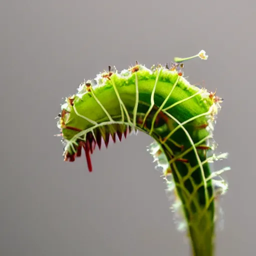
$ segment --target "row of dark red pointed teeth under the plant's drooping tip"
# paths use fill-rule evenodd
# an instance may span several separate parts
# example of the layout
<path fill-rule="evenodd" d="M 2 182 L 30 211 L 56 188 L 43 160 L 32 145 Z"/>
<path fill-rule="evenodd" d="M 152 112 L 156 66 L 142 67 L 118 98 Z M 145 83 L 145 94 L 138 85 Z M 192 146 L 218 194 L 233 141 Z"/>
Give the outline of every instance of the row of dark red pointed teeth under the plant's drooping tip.
<path fill-rule="evenodd" d="M 92 132 L 89 131 L 88 133 L 86 133 L 85 140 L 76 141 L 78 145 L 74 146 L 74 148 L 76 150 L 75 152 L 73 152 L 73 153 L 69 153 L 68 151 L 65 152 L 64 160 L 65 161 L 74 161 L 75 157 L 81 156 L 81 151 L 83 148 L 84 152 L 85 152 L 85 157 L 87 160 L 88 169 L 89 169 L 89 171 L 92 171 L 90 153 L 91 154 L 93 153 L 96 145 L 100 149 L 101 142 L 103 139 L 105 147 L 107 148 L 110 135 L 111 135 L 113 142 L 115 143 L 116 135 L 117 135 L 119 141 L 121 141 L 122 135 L 124 136 L 124 138 L 126 138 L 127 134 L 130 133 L 131 130 L 132 129 L 130 126 L 126 126 L 123 124 L 116 124 L 115 126 L 112 125 L 112 126 L 102 126 L 102 127 L 95 128 Z"/>

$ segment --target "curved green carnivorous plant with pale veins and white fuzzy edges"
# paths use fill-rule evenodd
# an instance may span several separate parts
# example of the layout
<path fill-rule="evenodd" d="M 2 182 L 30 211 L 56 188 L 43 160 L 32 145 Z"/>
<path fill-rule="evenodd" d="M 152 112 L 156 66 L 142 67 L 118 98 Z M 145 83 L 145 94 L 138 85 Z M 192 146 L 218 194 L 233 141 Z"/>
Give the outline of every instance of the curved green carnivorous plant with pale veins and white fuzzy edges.
<path fill-rule="evenodd" d="M 148 151 L 162 168 L 167 191 L 175 201 L 172 209 L 183 216 L 194 256 L 214 254 L 217 198 L 227 189 L 220 177 L 225 171 L 211 171 L 210 163 L 227 154 L 214 153 L 213 128 L 221 98 L 215 92 L 191 85 L 183 77 L 183 61 L 199 57 L 174 58 L 171 66 L 150 69 L 136 64 L 128 69 L 99 73 L 80 84 L 78 92 L 65 99 L 58 117 L 64 160 L 74 161 L 82 148 L 89 171 L 90 154 L 109 138 L 116 141 L 132 131 L 149 134 L 154 142 Z"/>

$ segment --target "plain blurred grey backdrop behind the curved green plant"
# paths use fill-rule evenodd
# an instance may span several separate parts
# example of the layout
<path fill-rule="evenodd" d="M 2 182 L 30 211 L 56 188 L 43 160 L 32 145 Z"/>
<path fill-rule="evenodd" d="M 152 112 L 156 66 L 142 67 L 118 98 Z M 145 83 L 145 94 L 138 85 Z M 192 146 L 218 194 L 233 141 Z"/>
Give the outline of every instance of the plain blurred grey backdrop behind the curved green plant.
<path fill-rule="evenodd" d="M 63 162 L 54 117 L 83 79 L 135 60 L 204 49 L 185 76 L 224 98 L 215 126 L 229 190 L 216 255 L 255 250 L 255 3 L 3 0 L 0 8 L 0 255 L 189 255 L 165 184 L 138 133 Z"/>

